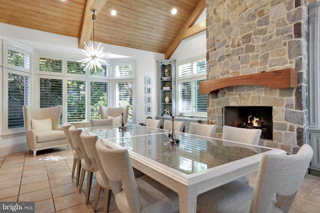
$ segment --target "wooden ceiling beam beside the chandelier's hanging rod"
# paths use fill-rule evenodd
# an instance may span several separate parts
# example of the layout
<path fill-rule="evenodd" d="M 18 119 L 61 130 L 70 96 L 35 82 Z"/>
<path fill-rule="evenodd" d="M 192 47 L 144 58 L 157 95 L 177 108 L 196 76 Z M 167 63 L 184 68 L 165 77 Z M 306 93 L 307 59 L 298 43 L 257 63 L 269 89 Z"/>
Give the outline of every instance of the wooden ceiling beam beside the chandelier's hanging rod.
<path fill-rule="evenodd" d="M 84 42 L 89 43 L 91 32 L 93 30 L 92 12 L 91 9 L 96 10 L 96 14 L 102 9 L 107 0 L 87 0 L 85 3 L 80 32 L 78 36 L 78 46 L 84 49 Z"/>

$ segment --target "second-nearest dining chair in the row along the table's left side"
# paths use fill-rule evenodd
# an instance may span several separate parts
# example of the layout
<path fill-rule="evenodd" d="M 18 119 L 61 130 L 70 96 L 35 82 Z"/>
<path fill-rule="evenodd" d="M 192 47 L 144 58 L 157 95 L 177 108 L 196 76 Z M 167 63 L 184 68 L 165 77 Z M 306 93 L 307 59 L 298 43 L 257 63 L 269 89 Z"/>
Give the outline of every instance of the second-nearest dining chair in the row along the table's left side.
<path fill-rule="evenodd" d="M 96 211 L 96 206 L 98 204 L 99 195 L 101 187 L 104 189 L 104 201 L 103 201 L 103 212 L 108 213 L 110 207 L 110 197 L 111 197 L 111 187 L 109 185 L 108 179 L 103 171 L 102 164 L 98 153 L 95 148 L 95 143 L 98 140 L 98 137 L 95 135 L 90 135 L 87 130 L 84 130 L 81 134 L 81 141 L 84 146 L 85 152 L 88 158 L 91 160 L 93 168 L 95 170 L 95 178 L 97 181 L 93 212 Z"/>

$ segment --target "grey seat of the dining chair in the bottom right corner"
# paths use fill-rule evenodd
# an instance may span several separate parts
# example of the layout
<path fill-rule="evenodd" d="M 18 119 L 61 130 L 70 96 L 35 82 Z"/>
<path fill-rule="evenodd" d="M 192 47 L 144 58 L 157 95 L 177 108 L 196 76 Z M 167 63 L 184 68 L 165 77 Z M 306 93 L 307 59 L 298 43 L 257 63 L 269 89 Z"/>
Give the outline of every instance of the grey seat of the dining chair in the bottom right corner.
<path fill-rule="evenodd" d="M 250 212 L 251 201 L 254 189 L 239 181 L 222 185 L 198 195 L 196 211 L 199 213 L 248 213 Z M 265 212 L 278 213 L 274 203 L 270 204 Z"/>

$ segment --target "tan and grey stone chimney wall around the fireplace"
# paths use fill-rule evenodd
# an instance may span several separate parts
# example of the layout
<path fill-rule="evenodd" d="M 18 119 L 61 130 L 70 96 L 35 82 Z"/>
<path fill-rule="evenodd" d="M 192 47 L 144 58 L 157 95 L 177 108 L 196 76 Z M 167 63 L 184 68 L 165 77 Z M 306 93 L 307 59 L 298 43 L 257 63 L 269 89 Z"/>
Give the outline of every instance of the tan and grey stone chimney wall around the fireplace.
<path fill-rule="evenodd" d="M 231 86 L 208 95 L 208 120 L 221 138 L 224 106 L 272 106 L 273 140 L 259 145 L 296 153 L 307 124 L 307 9 L 301 0 L 207 0 L 207 79 L 298 70 L 298 88 Z M 263 81 L 263 79 L 261 79 Z"/>

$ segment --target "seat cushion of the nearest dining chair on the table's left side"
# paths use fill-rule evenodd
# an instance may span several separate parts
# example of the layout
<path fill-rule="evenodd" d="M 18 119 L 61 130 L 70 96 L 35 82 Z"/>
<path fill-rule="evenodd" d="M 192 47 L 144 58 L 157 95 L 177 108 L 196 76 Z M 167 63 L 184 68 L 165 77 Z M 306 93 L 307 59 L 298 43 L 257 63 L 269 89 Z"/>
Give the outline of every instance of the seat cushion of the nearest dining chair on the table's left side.
<path fill-rule="evenodd" d="M 140 213 L 174 213 L 179 211 L 177 193 L 146 175 L 135 180 L 141 202 Z M 116 205 L 121 205 L 119 201 L 123 201 L 122 205 L 126 206 L 126 197 L 123 191 L 115 196 L 120 197 L 116 199 Z"/>

